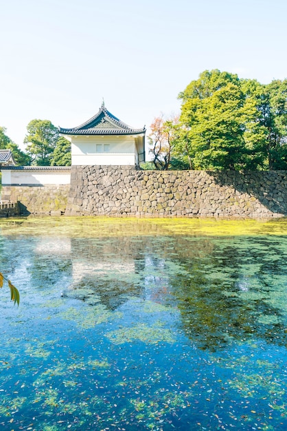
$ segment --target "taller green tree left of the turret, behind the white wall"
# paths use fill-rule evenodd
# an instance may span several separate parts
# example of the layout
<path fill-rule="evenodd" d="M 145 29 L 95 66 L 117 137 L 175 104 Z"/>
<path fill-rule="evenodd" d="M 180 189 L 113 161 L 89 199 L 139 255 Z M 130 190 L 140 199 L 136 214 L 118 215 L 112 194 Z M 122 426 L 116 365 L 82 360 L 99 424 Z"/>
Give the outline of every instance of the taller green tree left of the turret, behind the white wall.
<path fill-rule="evenodd" d="M 27 125 L 27 153 L 32 164 L 49 166 L 59 138 L 59 132 L 49 120 L 32 120 Z"/>

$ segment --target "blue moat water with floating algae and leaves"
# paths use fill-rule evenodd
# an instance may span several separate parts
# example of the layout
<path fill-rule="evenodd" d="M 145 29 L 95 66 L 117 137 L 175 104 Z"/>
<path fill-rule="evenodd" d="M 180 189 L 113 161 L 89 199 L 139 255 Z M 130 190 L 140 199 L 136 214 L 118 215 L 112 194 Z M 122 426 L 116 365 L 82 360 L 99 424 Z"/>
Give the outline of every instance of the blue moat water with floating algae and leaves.
<path fill-rule="evenodd" d="M 286 430 L 287 220 L 0 222 L 3 430 Z"/>

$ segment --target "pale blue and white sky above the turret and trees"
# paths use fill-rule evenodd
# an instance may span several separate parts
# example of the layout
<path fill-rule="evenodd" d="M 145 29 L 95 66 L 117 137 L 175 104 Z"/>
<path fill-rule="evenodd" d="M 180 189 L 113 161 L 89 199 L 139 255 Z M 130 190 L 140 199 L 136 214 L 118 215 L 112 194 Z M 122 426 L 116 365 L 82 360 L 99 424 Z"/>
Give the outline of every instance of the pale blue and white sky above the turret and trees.
<path fill-rule="evenodd" d="M 287 78 L 286 0 L 0 0 L 0 126 L 76 127 L 106 108 L 147 129 L 204 70 Z"/>

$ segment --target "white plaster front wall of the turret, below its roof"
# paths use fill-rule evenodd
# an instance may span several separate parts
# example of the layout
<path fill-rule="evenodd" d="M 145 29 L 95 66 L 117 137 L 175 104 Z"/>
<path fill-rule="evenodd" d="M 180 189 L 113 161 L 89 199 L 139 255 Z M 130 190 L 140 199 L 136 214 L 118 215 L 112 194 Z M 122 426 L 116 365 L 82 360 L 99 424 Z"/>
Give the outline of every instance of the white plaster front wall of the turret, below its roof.
<path fill-rule="evenodd" d="M 135 165 L 134 136 L 72 136 L 72 165 Z"/>

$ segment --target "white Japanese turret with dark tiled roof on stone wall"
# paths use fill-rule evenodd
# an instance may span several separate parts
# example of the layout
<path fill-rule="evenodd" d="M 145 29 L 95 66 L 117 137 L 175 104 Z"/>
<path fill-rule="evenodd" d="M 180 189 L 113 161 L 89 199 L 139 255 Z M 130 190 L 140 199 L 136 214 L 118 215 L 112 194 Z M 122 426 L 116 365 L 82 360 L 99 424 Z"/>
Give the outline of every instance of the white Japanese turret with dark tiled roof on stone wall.
<path fill-rule="evenodd" d="M 104 103 L 99 112 L 72 129 L 59 127 L 71 142 L 71 165 L 131 165 L 145 160 L 146 128 L 133 129 L 111 112 Z"/>

